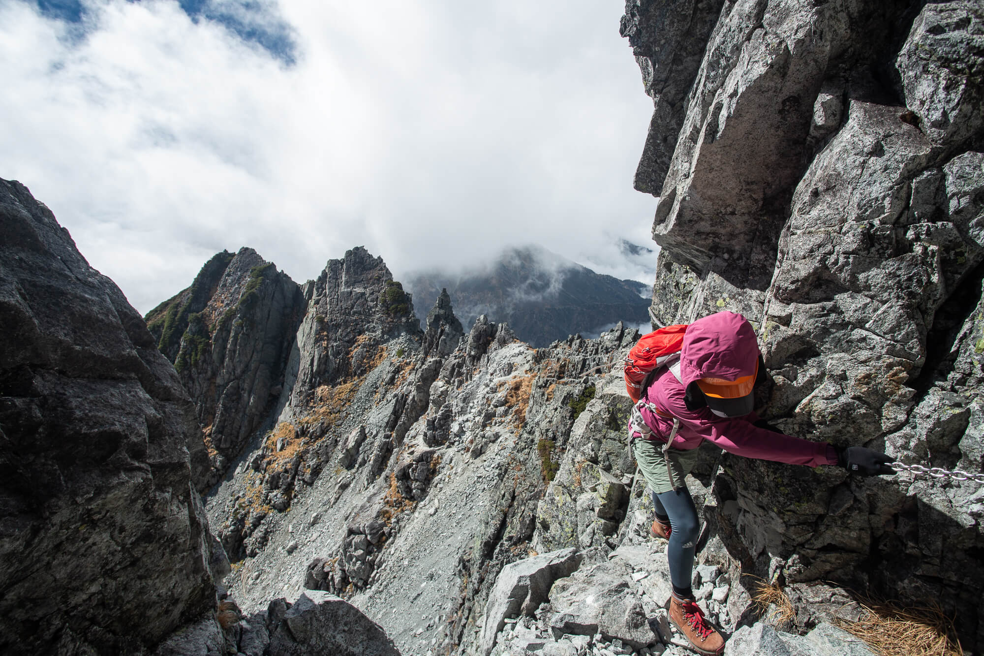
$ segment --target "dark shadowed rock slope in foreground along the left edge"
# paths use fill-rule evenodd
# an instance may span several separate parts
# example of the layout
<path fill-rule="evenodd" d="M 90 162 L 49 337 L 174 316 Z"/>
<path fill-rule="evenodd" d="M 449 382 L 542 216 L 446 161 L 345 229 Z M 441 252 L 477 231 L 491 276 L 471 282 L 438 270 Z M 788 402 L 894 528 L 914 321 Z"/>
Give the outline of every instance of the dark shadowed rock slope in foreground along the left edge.
<path fill-rule="evenodd" d="M 215 606 L 195 411 L 144 321 L 0 180 L 0 651 L 146 653 Z"/>

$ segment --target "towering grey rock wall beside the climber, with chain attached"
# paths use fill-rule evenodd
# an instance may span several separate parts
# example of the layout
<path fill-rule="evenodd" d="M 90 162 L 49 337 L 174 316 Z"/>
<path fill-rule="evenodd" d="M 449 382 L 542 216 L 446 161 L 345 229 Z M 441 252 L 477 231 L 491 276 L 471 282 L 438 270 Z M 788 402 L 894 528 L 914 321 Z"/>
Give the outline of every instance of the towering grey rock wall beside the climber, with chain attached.
<path fill-rule="evenodd" d="M 622 33 L 655 106 L 653 319 L 745 314 L 787 432 L 980 472 L 980 3 L 635 0 Z M 745 569 L 936 599 L 984 643 L 980 486 L 716 471 Z"/>

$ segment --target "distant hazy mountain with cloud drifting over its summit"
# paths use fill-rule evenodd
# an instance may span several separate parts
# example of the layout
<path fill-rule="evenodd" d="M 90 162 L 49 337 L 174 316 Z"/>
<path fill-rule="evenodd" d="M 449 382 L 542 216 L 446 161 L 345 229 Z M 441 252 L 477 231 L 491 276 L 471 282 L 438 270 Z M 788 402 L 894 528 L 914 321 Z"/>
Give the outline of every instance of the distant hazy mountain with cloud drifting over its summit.
<path fill-rule="evenodd" d="M 447 289 L 465 327 L 487 314 L 509 323 L 534 347 L 576 333 L 597 334 L 617 321 L 640 324 L 649 319 L 645 284 L 596 274 L 536 246 L 507 250 L 492 265 L 461 276 L 418 272 L 404 280 L 409 292 L 425 300 Z M 418 305 L 420 312 L 427 303 Z"/>

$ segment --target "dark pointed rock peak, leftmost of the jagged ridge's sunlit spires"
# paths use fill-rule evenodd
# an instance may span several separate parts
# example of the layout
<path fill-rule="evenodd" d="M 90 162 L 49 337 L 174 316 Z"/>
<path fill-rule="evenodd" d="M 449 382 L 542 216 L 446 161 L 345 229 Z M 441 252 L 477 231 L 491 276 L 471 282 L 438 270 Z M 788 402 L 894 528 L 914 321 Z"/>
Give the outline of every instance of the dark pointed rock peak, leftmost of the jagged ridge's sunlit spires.
<path fill-rule="evenodd" d="M 148 313 L 160 352 L 195 400 L 215 475 L 273 410 L 304 306 L 297 284 L 242 248 L 215 255 L 191 287 Z"/>

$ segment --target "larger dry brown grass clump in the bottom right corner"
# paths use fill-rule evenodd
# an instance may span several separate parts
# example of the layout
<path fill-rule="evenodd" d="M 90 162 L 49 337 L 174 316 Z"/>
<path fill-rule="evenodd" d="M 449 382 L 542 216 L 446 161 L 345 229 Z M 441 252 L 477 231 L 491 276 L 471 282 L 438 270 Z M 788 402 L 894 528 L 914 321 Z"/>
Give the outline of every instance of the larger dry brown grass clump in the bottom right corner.
<path fill-rule="evenodd" d="M 865 617 L 839 621 L 881 656 L 961 656 L 953 623 L 939 607 L 903 608 L 889 602 L 862 604 Z"/>

